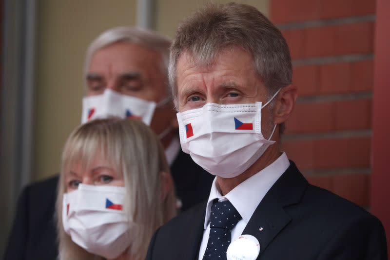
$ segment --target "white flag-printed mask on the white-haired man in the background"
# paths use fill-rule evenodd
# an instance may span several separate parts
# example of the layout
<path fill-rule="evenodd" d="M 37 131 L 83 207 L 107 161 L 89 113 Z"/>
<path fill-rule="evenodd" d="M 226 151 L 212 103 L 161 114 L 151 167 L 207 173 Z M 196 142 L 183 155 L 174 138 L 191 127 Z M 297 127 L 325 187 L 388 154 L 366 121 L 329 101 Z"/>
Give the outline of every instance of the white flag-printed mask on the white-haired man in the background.
<path fill-rule="evenodd" d="M 105 89 L 104 93 L 82 99 L 81 123 L 89 120 L 104 119 L 110 116 L 118 118 L 135 118 L 150 125 L 156 107 L 170 101 L 165 98 L 156 103 L 132 96 L 123 95 L 111 89 Z"/>

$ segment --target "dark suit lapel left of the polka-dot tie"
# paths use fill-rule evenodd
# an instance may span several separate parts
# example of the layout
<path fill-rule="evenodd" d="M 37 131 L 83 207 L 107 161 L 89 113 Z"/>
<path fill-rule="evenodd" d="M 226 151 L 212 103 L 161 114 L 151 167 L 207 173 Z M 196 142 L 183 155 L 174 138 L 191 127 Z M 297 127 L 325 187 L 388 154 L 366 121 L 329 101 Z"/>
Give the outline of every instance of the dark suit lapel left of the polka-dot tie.
<path fill-rule="evenodd" d="M 182 243 L 177 248 L 178 255 L 184 257 L 182 259 L 197 259 L 200 242 L 203 238 L 206 205 L 207 203 L 201 203 L 200 205 L 195 206 L 194 209 L 190 209 L 188 212 L 189 214 L 187 214 L 187 225 L 185 225 L 185 228 L 182 230 L 182 232 L 184 232 L 183 238 L 185 239 L 183 239 Z"/>

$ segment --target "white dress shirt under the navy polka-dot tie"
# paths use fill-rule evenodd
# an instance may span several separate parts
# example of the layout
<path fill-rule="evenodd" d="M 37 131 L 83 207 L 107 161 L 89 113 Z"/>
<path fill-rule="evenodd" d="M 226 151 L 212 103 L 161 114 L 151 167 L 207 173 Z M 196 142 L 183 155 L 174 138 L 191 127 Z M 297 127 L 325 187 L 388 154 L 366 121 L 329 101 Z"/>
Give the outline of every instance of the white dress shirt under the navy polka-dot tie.
<path fill-rule="evenodd" d="M 206 216 L 204 220 L 204 232 L 202 242 L 199 248 L 199 260 L 203 259 L 206 251 L 207 242 L 210 234 L 210 212 L 213 200 L 218 201 L 229 200 L 234 208 L 241 215 L 242 220 L 238 221 L 232 229 L 231 241 L 242 235 L 246 225 L 251 219 L 255 209 L 261 200 L 263 200 L 266 193 L 271 189 L 276 180 L 287 170 L 290 166 L 290 161 L 287 159 L 286 153 L 283 152 L 278 159 L 276 159 L 269 166 L 256 173 L 254 176 L 244 180 L 238 184 L 225 196 L 222 196 L 216 187 L 216 178 L 211 186 L 209 200 L 207 201 Z M 245 234 L 244 234 L 245 235 Z"/>

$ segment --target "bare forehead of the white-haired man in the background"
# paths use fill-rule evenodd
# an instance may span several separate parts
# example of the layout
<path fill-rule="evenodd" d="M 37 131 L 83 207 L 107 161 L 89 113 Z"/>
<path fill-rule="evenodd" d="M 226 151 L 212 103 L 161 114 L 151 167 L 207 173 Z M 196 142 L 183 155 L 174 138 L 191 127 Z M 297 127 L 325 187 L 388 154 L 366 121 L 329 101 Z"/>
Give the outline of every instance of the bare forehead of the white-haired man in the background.
<path fill-rule="evenodd" d="M 135 43 L 116 42 L 97 50 L 91 57 L 88 72 L 104 74 L 130 71 L 161 72 L 161 56 L 154 50 Z"/>

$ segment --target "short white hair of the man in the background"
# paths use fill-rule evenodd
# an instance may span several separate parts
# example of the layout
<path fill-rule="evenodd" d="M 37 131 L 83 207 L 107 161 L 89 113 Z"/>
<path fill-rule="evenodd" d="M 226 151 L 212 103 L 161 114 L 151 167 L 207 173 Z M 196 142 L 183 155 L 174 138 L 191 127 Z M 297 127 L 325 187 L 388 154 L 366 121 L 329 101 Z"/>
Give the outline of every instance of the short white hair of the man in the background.
<path fill-rule="evenodd" d="M 91 59 L 96 51 L 116 42 L 138 44 L 161 55 L 162 71 L 168 77 L 169 47 L 171 39 L 153 31 L 137 27 L 116 27 L 98 36 L 88 47 L 85 59 L 84 75 L 87 74 Z"/>

